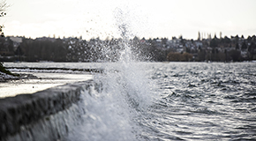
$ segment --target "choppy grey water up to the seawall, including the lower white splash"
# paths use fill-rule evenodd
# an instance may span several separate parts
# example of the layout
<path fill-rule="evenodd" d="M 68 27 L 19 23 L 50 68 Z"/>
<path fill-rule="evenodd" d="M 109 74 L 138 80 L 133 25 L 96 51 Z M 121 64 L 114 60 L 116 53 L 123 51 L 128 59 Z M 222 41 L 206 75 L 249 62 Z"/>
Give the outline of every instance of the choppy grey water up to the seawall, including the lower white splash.
<path fill-rule="evenodd" d="M 68 140 L 256 139 L 256 63 L 120 66 L 95 76 Z"/>

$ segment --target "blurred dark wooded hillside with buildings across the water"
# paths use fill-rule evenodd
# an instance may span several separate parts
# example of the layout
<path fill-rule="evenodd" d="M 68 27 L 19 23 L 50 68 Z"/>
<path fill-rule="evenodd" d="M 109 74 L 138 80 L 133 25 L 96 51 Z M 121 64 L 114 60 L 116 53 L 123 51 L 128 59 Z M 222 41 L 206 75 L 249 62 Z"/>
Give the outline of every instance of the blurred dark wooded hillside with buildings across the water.
<path fill-rule="evenodd" d="M 25 37 L 0 38 L 1 62 L 115 62 L 120 56 L 122 39 L 99 38 L 82 40 L 80 38 L 49 38 L 29 39 Z M 129 41 L 133 57 L 140 61 L 212 61 L 240 62 L 256 60 L 255 35 L 242 36 L 216 35 L 211 38 L 187 40 L 180 37 L 139 39 L 134 37 Z"/>

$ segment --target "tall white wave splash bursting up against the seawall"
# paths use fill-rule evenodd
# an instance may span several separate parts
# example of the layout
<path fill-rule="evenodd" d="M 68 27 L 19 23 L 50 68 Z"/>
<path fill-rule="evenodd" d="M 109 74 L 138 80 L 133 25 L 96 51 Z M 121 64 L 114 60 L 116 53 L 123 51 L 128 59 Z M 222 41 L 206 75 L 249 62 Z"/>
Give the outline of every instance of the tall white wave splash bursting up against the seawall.
<path fill-rule="evenodd" d="M 138 140 L 136 116 L 148 110 L 154 99 L 145 68 L 134 58 L 128 12 L 116 9 L 117 27 L 122 37 L 118 61 L 102 63 L 104 72 L 94 75 L 94 86 L 84 91 L 83 123 L 68 140 Z M 105 50 L 108 54 L 108 50 Z M 111 57 L 111 56 L 109 56 Z M 109 59 L 111 60 L 111 59 Z"/>

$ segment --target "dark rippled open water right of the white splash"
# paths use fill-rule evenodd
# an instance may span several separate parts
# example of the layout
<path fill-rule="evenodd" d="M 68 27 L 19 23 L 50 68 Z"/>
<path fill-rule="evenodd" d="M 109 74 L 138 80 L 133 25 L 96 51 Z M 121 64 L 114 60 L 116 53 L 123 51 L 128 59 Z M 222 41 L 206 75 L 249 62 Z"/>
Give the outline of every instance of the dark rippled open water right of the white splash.
<path fill-rule="evenodd" d="M 255 63 L 162 63 L 161 99 L 143 113 L 148 140 L 256 140 Z"/>

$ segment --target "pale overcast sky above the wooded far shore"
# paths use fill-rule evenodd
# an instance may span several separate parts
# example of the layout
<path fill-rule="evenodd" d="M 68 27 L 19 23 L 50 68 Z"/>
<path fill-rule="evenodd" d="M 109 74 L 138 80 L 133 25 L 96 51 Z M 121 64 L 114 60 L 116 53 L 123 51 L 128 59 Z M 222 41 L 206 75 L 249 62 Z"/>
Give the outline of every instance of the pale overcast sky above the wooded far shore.
<path fill-rule="evenodd" d="M 118 37 L 117 11 L 131 33 L 140 38 L 183 35 L 197 39 L 198 32 L 227 35 L 256 34 L 256 0 L 6 0 L 11 6 L 0 19 L 5 35 L 31 38 L 83 36 Z M 122 19 L 123 20 L 123 19 Z"/>

